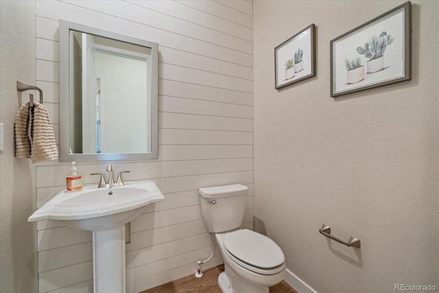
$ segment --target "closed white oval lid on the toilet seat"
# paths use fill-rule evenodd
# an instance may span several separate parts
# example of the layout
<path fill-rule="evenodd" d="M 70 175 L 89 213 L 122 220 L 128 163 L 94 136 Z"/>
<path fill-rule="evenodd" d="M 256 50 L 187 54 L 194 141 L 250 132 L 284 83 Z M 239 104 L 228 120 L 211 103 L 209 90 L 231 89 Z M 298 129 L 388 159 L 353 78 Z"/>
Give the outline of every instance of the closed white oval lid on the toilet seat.
<path fill-rule="evenodd" d="M 237 259 L 258 268 L 275 268 L 285 261 L 276 242 L 248 229 L 226 233 L 224 247 Z"/>

